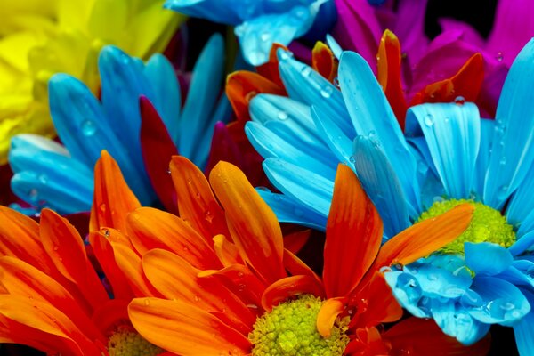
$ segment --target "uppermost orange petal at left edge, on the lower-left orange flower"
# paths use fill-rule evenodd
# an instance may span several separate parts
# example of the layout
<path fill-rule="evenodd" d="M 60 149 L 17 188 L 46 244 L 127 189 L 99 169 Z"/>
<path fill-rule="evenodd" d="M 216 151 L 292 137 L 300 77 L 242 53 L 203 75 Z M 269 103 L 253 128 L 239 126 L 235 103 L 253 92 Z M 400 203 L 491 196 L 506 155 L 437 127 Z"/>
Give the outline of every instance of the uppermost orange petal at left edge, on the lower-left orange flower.
<path fill-rule="evenodd" d="M 0 255 L 11 255 L 53 276 L 59 275 L 39 239 L 39 224 L 0 206 Z"/>

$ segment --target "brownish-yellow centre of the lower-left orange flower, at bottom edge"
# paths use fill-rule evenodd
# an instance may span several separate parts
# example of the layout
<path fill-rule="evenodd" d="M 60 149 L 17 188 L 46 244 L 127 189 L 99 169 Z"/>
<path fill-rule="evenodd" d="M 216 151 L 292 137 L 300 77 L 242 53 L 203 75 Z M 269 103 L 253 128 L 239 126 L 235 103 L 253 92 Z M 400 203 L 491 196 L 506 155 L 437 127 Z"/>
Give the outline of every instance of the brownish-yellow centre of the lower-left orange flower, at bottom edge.
<path fill-rule="evenodd" d="M 123 326 L 109 337 L 108 352 L 109 356 L 156 356 L 163 350 L 150 344 L 133 328 Z"/>

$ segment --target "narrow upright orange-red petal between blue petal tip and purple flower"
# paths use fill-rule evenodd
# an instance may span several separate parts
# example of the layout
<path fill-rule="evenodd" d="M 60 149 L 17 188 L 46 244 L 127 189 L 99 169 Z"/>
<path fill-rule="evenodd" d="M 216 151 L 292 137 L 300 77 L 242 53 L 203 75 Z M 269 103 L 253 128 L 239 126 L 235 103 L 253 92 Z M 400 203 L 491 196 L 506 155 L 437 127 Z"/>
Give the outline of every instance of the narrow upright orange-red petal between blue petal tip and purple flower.
<path fill-rule="evenodd" d="M 392 106 L 395 117 L 399 125 L 404 129 L 404 120 L 406 118 L 406 99 L 401 83 L 401 44 L 399 39 L 392 31 L 386 29 L 380 45 L 378 46 L 378 68 L 376 76 L 378 83 L 382 85 L 387 101 Z"/>

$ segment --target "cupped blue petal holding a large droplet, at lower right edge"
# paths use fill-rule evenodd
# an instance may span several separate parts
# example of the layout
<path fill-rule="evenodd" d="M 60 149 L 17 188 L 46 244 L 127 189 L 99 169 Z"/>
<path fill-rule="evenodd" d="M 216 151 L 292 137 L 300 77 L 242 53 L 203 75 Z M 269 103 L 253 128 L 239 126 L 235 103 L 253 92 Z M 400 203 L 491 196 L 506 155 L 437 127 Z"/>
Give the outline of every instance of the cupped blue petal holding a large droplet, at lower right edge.
<path fill-rule="evenodd" d="M 503 279 L 476 276 L 471 289 L 481 296 L 482 305 L 466 308 L 483 323 L 510 325 L 530 312 L 529 301 L 521 290 Z"/>

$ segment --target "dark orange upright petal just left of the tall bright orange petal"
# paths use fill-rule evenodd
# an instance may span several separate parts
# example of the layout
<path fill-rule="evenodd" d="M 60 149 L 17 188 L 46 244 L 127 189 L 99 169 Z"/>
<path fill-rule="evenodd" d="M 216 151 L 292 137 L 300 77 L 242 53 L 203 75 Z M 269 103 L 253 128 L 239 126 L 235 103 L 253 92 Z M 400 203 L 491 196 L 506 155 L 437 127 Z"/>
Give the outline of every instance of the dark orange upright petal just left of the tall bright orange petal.
<path fill-rule="evenodd" d="M 224 212 L 204 174 L 189 159 L 173 156 L 170 164 L 180 217 L 211 244 L 215 235 L 229 236 Z"/>

